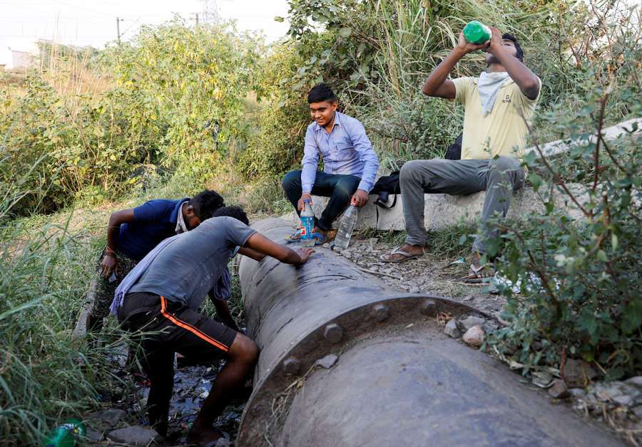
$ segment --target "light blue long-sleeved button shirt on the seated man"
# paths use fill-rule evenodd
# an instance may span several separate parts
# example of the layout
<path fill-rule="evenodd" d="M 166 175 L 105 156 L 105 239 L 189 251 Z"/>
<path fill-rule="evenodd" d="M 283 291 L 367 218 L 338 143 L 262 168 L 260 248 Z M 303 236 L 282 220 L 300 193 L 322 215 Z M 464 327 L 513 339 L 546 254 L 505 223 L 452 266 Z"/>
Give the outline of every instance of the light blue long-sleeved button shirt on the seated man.
<path fill-rule="evenodd" d="M 358 189 L 367 192 L 374 186 L 379 161 L 372 143 L 365 135 L 365 128 L 355 118 L 335 112 L 330 134 L 316 122 L 307 127 L 301 172 L 302 192 L 312 191 L 317 177 L 319 154 L 323 158 L 323 170 L 327 174 L 361 177 Z"/>

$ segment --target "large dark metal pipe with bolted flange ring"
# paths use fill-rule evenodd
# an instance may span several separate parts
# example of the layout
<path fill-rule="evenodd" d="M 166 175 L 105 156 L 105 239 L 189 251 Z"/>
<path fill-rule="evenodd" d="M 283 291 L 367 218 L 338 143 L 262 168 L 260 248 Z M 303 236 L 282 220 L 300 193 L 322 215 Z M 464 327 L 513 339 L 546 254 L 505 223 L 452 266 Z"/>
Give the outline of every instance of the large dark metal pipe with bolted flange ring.
<path fill-rule="evenodd" d="M 238 446 L 618 444 L 444 335 L 437 317 L 472 307 L 399 295 L 325 248 L 298 268 L 244 258 L 240 283 L 261 353 Z"/>

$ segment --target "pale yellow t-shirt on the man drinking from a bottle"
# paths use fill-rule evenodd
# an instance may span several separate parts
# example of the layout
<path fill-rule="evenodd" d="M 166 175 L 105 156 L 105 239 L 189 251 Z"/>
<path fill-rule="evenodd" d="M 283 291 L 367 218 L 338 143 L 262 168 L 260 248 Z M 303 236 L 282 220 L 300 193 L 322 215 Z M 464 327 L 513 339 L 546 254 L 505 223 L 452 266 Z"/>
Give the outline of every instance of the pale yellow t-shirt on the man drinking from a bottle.
<path fill-rule="evenodd" d="M 482 117 L 477 80 L 479 78 L 453 80 L 455 100 L 466 107 L 462 159 L 493 158 L 498 154 L 521 159 L 526 148 L 528 129 L 519 115 L 519 109 L 524 111 L 530 125 L 539 93 L 537 98 L 529 100 L 515 81 L 508 78 L 499 88 L 492 110 Z M 541 87 L 541 80 L 537 80 Z"/>

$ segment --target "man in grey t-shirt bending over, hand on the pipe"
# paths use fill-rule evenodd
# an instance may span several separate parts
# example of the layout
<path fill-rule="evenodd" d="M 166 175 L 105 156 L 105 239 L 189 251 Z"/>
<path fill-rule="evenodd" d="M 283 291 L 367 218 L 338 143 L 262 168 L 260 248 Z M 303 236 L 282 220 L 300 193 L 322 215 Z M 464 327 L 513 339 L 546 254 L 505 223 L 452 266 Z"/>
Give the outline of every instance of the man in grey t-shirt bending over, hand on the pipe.
<path fill-rule="evenodd" d="M 175 236 L 153 260 L 141 261 L 149 265 L 118 310 L 124 329 L 148 332 L 140 343 L 145 353 L 142 366 L 151 381 L 149 421 L 163 435 L 173 387 L 174 352 L 200 362 L 221 356 L 227 360 L 190 428 L 189 443 L 205 444 L 220 437 L 213 431 L 213 421 L 256 363 L 258 348 L 250 338 L 198 313 L 205 295 L 213 295 L 235 248 L 241 247 L 240 253 L 257 261 L 267 255 L 293 265 L 305 263 L 313 253 L 311 248 L 292 251 L 280 246 L 247 224 L 242 209 L 227 206 L 193 231 Z"/>

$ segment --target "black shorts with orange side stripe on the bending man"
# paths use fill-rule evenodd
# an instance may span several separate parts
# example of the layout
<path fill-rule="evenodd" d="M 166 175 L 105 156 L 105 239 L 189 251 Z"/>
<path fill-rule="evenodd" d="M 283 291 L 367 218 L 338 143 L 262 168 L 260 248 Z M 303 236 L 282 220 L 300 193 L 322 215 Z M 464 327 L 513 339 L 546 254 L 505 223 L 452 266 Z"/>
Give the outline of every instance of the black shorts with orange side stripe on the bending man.
<path fill-rule="evenodd" d="M 154 293 L 125 295 L 118 321 L 128 332 L 143 332 L 143 351 L 179 352 L 198 363 L 224 357 L 237 334 L 184 303 Z"/>

